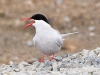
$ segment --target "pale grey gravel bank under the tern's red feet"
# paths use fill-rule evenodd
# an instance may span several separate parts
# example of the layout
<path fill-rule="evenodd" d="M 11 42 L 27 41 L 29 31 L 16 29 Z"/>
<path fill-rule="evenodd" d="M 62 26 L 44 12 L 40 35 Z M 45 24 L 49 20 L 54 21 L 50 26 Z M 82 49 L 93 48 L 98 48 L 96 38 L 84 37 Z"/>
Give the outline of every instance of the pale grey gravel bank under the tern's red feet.
<path fill-rule="evenodd" d="M 10 65 L 0 66 L 0 75 L 99 75 L 100 48 L 83 50 L 75 54 L 55 57 L 55 60 L 19 64 L 10 61 Z"/>

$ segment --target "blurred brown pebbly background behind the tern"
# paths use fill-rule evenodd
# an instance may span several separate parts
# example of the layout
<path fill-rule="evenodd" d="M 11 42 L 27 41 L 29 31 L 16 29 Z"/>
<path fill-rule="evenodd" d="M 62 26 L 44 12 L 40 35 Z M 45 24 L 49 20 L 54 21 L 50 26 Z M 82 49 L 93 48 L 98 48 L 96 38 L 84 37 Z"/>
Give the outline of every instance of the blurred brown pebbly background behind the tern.
<path fill-rule="evenodd" d="M 40 60 L 32 45 L 35 28 L 21 18 L 44 14 L 51 26 L 67 36 L 56 55 L 72 54 L 100 46 L 100 0 L 0 0 L 0 64 Z"/>

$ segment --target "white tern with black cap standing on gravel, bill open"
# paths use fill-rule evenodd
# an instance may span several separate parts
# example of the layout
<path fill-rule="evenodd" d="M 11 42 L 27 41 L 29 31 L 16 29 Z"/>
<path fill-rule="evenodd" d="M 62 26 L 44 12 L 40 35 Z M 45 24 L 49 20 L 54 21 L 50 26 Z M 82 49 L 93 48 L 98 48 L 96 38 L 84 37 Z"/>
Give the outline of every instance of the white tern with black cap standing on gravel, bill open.
<path fill-rule="evenodd" d="M 61 34 L 59 31 L 51 27 L 48 19 L 43 14 L 34 14 L 29 18 L 23 18 L 22 20 L 31 20 L 32 22 L 24 26 L 34 26 L 36 33 L 33 37 L 34 46 L 42 52 L 42 59 L 40 62 L 44 62 L 45 55 L 51 56 L 50 61 L 54 60 L 55 54 L 61 50 L 63 46 L 63 37 L 77 33 Z"/>

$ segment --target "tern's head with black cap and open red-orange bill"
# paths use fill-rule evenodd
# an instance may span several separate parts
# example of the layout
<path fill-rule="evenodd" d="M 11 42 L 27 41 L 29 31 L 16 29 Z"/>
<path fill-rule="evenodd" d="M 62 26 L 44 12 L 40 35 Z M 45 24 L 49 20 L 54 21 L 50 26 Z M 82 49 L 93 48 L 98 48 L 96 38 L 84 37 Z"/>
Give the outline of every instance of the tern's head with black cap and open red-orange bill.
<path fill-rule="evenodd" d="M 32 17 L 23 18 L 22 20 L 32 20 L 32 22 L 27 24 L 26 26 L 24 26 L 24 28 L 27 28 L 27 27 L 32 26 L 32 25 L 34 26 L 37 22 L 40 22 L 41 20 L 45 21 L 46 23 L 49 24 L 47 18 L 42 14 L 35 14 Z"/>

